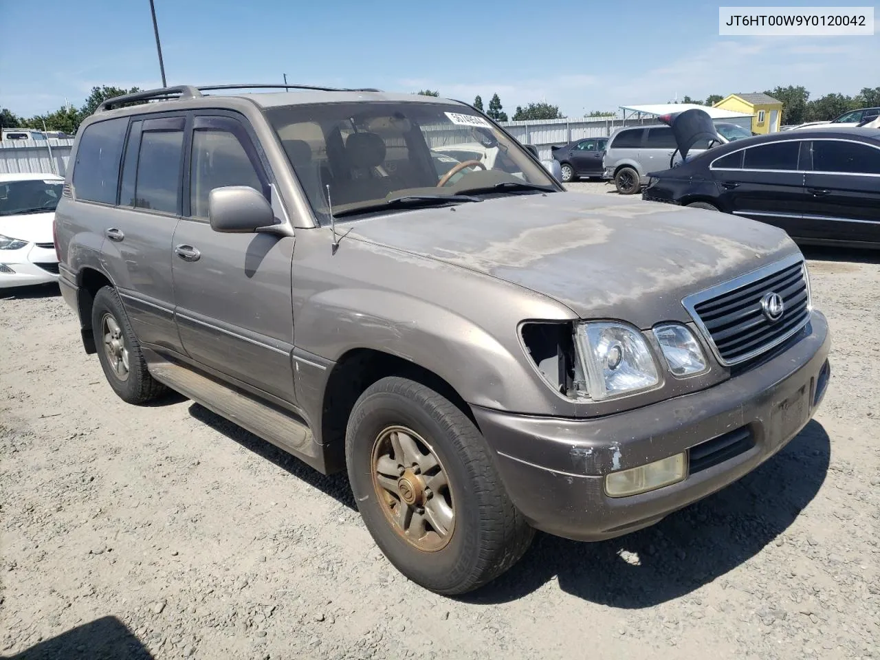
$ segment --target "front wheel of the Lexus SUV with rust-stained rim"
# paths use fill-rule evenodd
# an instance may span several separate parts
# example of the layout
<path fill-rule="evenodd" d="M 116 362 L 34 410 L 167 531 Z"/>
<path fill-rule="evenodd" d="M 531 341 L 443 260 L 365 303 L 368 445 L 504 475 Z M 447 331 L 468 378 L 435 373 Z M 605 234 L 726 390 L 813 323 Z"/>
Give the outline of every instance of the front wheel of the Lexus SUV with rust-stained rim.
<path fill-rule="evenodd" d="M 416 447 L 420 463 L 430 466 L 436 460 L 438 465 L 415 475 L 400 474 L 402 468 L 395 463 L 413 455 L 403 451 L 398 456 L 399 448 L 407 445 Z M 364 524 L 400 573 L 425 589 L 449 596 L 477 589 L 513 566 L 532 543 L 534 532 L 510 502 L 480 431 L 458 407 L 425 385 L 400 377 L 370 385 L 348 419 L 345 453 Z M 385 478 L 374 473 L 374 466 L 382 466 L 382 473 L 396 469 L 398 476 Z M 397 495 L 378 480 L 396 483 Z M 401 486 L 405 481 L 414 488 Z M 427 486 L 437 492 L 429 494 Z M 422 514 L 418 502 L 414 507 L 405 502 L 406 495 L 412 498 L 416 491 L 422 495 Z M 414 532 L 407 534 L 394 522 L 397 514 L 388 502 L 395 500 L 398 512 L 410 511 L 407 520 Z M 438 517 L 443 524 L 417 524 L 422 515 L 428 519 L 444 507 L 452 516 Z"/>

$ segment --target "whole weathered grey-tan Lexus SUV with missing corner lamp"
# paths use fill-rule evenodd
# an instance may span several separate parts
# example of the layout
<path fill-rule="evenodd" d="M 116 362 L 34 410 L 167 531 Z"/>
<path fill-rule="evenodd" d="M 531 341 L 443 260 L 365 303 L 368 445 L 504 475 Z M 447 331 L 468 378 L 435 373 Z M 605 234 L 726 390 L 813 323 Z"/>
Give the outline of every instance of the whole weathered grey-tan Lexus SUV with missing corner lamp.
<path fill-rule="evenodd" d="M 828 326 L 784 231 L 568 193 L 447 99 L 207 89 L 77 132 L 55 221 L 84 349 L 122 400 L 175 390 L 347 471 L 427 589 L 487 583 L 534 529 L 656 523 L 822 400 Z M 497 152 L 432 152 L 456 143 Z"/>

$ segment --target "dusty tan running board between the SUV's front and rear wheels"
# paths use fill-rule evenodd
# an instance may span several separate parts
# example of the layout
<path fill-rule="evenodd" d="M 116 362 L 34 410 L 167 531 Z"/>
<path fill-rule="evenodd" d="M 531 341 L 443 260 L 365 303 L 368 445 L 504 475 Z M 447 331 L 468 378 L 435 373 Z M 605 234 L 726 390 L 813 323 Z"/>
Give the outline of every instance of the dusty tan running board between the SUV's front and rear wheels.
<path fill-rule="evenodd" d="M 153 351 L 144 353 L 150 375 L 160 383 L 326 472 L 321 446 L 304 422 Z"/>

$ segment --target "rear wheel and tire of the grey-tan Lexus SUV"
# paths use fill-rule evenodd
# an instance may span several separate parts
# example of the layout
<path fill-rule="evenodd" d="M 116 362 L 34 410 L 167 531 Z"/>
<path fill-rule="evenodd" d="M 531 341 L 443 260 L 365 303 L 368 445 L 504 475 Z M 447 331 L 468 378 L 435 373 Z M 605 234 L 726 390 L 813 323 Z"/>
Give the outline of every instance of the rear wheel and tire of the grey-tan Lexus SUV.
<path fill-rule="evenodd" d="M 113 287 L 106 286 L 95 295 L 92 334 L 104 377 L 121 400 L 142 404 L 167 392 L 165 385 L 150 376 L 141 344 Z"/>

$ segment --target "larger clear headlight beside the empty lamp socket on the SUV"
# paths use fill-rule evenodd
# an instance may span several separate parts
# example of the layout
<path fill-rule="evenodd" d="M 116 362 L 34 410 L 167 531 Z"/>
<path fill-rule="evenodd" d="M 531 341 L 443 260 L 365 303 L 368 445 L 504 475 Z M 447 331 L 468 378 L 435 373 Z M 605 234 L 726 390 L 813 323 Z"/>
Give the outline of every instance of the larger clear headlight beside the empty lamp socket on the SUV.
<path fill-rule="evenodd" d="M 648 343 L 634 327 L 605 321 L 581 323 L 576 339 L 591 399 L 641 392 L 660 382 Z"/>

